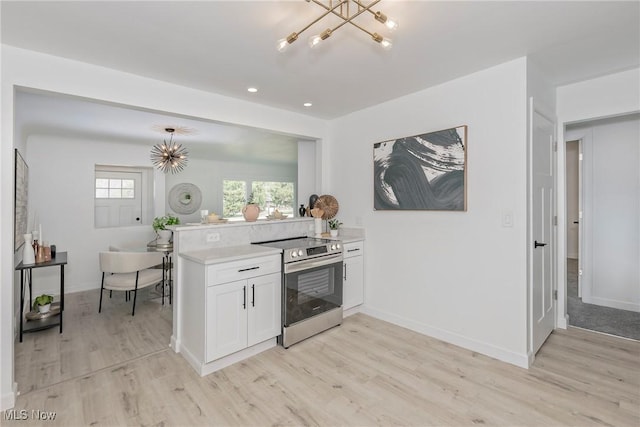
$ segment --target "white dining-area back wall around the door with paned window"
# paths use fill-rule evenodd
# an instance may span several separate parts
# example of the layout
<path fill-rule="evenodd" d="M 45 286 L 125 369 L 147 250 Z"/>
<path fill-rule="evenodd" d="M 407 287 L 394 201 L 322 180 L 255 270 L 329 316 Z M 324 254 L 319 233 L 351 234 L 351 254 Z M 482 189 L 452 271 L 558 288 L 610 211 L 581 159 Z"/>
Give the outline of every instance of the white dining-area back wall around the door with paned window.
<path fill-rule="evenodd" d="M 65 291 L 100 287 L 98 252 L 109 245 L 148 242 L 155 233 L 149 224 L 122 228 L 95 228 L 94 178 L 96 164 L 148 166 L 148 147 L 32 135 L 27 139 L 30 221 L 37 214 L 44 239 L 68 252 Z M 164 194 L 164 174 L 156 172 L 156 191 Z M 58 294 L 58 269 L 33 272 L 34 293 Z"/>

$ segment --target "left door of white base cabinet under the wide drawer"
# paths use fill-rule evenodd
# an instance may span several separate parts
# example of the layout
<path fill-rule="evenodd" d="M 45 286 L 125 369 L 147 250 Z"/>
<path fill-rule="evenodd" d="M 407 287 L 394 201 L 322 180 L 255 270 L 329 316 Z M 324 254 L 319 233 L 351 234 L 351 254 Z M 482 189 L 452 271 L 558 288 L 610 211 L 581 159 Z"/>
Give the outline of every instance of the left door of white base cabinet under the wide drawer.
<path fill-rule="evenodd" d="M 206 362 L 247 347 L 247 281 L 207 288 Z"/>

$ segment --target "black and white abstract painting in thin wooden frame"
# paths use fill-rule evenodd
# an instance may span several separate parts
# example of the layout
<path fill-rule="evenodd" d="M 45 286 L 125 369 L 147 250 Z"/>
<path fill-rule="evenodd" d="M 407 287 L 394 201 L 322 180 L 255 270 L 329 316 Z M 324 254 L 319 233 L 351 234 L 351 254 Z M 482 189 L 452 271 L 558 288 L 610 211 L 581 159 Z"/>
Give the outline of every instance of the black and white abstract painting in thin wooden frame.
<path fill-rule="evenodd" d="M 466 211 L 467 126 L 373 145 L 375 210 Z"/>

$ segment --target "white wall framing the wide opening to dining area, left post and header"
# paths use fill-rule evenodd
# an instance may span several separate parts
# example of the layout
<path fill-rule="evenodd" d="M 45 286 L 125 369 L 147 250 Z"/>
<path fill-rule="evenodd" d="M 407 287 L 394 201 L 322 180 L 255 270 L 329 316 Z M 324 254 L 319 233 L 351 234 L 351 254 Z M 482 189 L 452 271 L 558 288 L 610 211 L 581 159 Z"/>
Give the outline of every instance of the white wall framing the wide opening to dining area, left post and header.
<path fill-rule="evenodd" d="M 140 108 L 236 123 L 306 138 L 326 140 L 327 123 L 302 114 L 135 76 L 32 51 L 2 45 L 0 145 L 0 398 L 1 408 L 13 405 L 13 145 L 14 87 L 24 86 L 110 101 Z M 19 143 L 19 142 L 18 142 Z M 322 145 L 322 144 L 321 144 Z M 327 156 L 328 150 L 322 150 Z M 318 158 L 318 162 L 321 158 Z M 321 168 L 318 166 L 318 170 Z M 322 171 L 321 176 L 326 174 Z M 324 179 L 324 178 L 323 178 Z M 320 182 L 321 187 L 326 184 Z M 323 190 L 323 188 L 320 188 Z M 44 224 L 43 224 L 44 227 Z M 56 227 L 53 225 L 52 227 Z M 70 253 L 69 269 L 76 266 Z"/>

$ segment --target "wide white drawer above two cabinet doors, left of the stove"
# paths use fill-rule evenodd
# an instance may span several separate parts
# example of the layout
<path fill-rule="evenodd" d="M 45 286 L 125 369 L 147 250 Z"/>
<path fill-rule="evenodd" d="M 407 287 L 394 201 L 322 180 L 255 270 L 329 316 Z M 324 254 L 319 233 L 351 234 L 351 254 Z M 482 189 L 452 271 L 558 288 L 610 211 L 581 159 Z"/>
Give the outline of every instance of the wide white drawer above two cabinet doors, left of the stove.
<path fill-rule="evenodd" d="M 207 267 L 207 285 L 248 279 L 280 272 L 280 255 L 248 258 Z"/>

